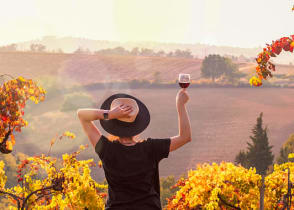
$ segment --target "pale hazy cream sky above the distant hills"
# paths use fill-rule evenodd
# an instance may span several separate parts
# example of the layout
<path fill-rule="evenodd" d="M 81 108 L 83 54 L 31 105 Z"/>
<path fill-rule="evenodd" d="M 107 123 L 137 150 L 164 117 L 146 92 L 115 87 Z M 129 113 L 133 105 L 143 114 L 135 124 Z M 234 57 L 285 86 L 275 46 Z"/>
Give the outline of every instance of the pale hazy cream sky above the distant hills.
<path fill-rule="evenodd" d="M 0 45 L 95 40 L 264 46 L 294 34 L 293 0 L 0 0 Z"/>

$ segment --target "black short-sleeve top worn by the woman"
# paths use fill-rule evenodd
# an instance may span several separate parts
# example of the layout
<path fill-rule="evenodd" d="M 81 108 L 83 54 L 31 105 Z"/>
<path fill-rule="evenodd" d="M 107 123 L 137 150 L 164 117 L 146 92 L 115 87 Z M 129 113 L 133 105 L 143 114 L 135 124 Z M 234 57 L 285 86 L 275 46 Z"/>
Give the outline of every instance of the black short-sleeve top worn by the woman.
<path fill-rule="evenodd" d="M 169 155 L 170 138 L 126 146 L 101 136 L 95 151 L 108 183 L 105 209 L 161 209 L 158 164 Z"/>

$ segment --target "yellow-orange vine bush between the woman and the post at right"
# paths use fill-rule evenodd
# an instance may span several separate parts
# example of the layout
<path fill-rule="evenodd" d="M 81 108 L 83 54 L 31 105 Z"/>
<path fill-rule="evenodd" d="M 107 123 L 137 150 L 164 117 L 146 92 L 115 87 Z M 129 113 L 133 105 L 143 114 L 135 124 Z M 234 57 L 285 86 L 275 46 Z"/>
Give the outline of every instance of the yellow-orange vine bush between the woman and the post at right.
<path fill-rule="evenodd" d="M 190 170 L 184 186 L 177 191 L 170 200 L 167 209 L 189 209 L 201 207 L 203 209 L 220 209 L 222 199 L 238 205 L 241 209 L 248 209 L 250 205 L 257 205 L 260 176 L 254 169 L 247 170 L 233 163 L 222 162 L 220 165 L 198 165 L 196 170 Z"/>

